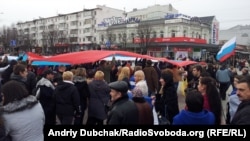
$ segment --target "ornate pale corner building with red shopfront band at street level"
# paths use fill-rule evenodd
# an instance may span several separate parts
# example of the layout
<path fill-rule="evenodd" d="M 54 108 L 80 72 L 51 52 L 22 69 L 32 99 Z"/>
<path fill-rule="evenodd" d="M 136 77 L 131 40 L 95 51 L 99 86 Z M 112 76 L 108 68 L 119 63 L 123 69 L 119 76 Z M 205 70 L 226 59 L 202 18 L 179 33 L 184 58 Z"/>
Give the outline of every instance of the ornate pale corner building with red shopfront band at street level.
<path fill-rule="evenodd" d="M 215 16 L 190 17 L 171 5 L 162 7 L 155 5 L 125 13 L 126 20 L 120 24 L 110 26 L 102 22 L 98 28 L 101 47 L 175 59 L 206 59 L 215 55 L 219 44 L 219 22 Z"/>

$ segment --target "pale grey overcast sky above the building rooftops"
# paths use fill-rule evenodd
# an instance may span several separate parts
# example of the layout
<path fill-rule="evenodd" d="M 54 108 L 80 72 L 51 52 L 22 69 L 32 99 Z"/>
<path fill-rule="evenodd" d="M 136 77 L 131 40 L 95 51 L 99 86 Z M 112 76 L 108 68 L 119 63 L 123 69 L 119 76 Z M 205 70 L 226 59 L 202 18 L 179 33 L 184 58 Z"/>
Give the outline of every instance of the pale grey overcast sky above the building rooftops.
<path fill-rule="evenodd" d="M 96 5 L 131 11 L 155 4 L 172 4 L 179 13 L 188 16 L 216 16 L 220 29 L 236 25 L 250 25 L 250 0 L 1 0 L 0 27 L 18 21 L 52 17 L 91 9 Z"/>

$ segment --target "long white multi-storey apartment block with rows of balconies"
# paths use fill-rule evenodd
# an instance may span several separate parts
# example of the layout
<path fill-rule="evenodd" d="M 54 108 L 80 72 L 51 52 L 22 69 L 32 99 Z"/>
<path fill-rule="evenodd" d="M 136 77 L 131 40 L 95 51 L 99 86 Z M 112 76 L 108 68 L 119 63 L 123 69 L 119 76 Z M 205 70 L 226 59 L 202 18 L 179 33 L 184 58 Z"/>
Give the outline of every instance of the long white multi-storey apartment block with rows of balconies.
<path fill-rule="evenodd" d="M 124 11 L 97 5 L 94 9 L 58 14 L 17 24 L 18 43 L 22 50 L 42 48 L 43 53 L 72 52 L 96 47 L 96 26 L 103 18 L 123 18 Z"/>

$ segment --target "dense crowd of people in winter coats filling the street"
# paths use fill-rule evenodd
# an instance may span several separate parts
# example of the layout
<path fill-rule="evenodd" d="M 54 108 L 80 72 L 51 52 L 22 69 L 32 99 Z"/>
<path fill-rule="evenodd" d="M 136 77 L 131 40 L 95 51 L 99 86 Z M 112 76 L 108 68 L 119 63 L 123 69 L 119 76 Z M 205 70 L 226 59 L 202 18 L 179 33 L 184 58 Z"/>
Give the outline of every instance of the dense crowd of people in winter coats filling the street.
<path fill-rule="evenodd" d="M 115 58 L 72 66 L 2 61 L 0 140 L 42 141 L 44 125 L 159 125 L 159 116 L 170 125 L 250 124 L 249 68 L 238 74 L 225 64 L 133 63 Z M 183 80 L 188 85 L 182 109 L 178 88 Z M 229 86 L 233 91 L 227 96 Z"/>

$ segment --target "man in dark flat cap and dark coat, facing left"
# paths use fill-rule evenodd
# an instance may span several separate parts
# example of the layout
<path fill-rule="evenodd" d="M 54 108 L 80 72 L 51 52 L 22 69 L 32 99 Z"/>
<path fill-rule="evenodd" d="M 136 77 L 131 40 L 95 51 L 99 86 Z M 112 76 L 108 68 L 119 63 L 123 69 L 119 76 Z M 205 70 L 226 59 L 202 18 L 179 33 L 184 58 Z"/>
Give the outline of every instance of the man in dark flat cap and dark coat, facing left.
<path fill-rule="evenodd" d="M 108 114 L 108 125 L 128 125 L 139 123 L 139 112 L 135 103 L 129 100 L 128 85 L 124 81 L 109 83 L 110 96 L 113 102 Z"/>

